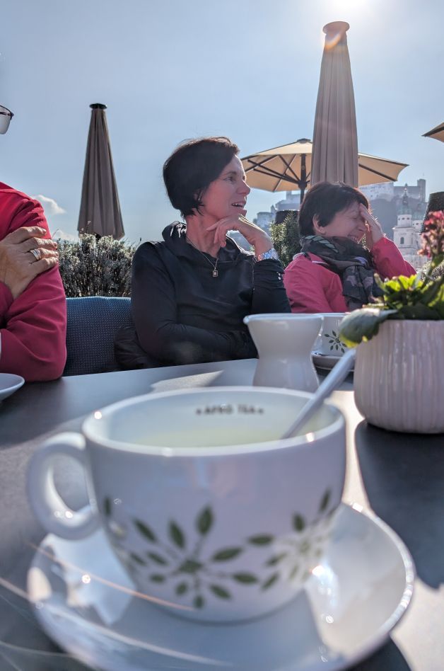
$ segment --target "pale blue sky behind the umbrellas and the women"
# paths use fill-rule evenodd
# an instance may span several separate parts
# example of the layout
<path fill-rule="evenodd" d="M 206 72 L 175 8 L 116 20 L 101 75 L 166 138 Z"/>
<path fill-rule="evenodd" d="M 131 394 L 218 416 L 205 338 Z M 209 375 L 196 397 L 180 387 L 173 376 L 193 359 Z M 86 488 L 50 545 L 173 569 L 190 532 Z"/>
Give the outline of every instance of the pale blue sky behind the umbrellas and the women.
<path fill-rule="evenodd" d="M 90 103 L 108 107 L 130 241 L 177 218 L 162 165 L 182 139 L 226 134 L 244 155 L 312 138 L 334 20 L 351 26 L 359 150 L 444 189 L 444 144 L 421 137 L 444 121 L 442 0 L 13 0 L 1 15 L 0 103 L 16 116 L 0 180 L 47 198 L 52 231 L 76 232 Z M 252 191 L 249 216 L 281 197 Z"/>

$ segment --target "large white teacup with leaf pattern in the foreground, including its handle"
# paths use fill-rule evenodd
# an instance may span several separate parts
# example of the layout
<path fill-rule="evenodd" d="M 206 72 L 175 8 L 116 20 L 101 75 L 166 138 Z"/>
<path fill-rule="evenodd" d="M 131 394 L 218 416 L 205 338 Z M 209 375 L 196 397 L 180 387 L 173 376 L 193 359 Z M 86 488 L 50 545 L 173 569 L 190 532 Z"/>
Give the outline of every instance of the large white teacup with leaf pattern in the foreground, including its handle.
<path fill-rule="evenodd" d="M 218 387 L 148 394 L 90 415 L 33 456 L 28 495 L 67 539 L 100 525 L 145 598 L 177 615 L 266 614 L 317 566 L 341 501 L 344 417 L 324 404 L 304 435 L 279 440 L 310 394 Z M 70 510 L 54 460 L 86 470 L 90 506 Z"/>

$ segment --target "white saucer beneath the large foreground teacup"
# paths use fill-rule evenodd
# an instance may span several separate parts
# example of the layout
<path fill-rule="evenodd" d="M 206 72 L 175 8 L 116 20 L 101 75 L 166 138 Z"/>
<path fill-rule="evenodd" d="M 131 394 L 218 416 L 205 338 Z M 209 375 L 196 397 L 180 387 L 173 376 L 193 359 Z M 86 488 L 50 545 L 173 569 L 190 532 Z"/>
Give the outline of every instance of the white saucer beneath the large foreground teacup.
<path fill-rule="evenodd" d="M 28 572 L 30 601 L 54 641 L 104 671 L 344 669 L 385 643 L 414 580 L 402 541 L 360 510 L 341 504 L 305 588 L 255 621 L 194 623 L 138 597 L 101 530 L 82 541 L 47 536 Z"/>

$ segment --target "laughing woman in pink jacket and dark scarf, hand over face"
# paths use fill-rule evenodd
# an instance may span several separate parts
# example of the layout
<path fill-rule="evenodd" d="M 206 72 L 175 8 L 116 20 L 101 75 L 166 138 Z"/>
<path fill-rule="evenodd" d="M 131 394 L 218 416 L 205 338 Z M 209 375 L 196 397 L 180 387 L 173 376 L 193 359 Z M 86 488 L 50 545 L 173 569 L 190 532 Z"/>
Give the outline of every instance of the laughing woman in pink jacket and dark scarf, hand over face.
<path fill-rule="evenodd" d="M 299 229 L 302 252 L 284 273 L 292 312 L 349 312 L 380 295 L 374 273 L 383 279 L 416 273 L 382 234 L 365 195 L 351 186 L 313 186 L 300 208 Z"/>

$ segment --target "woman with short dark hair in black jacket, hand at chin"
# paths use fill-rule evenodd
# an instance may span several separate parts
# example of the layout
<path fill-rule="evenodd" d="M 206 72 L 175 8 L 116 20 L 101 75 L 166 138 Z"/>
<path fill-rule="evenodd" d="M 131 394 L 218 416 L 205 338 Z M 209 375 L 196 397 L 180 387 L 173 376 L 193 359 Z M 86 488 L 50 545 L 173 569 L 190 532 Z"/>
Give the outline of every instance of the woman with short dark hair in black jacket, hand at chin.
<path fill-rule="evenodd" d="M 125 367 L 255 357 L 247 314 L 289 312 L 281 263 L 269 236 L 245 219 L 250 188 L 226 137 L 181 144 L 165 161 L 171 204 L 185 223 L 141 245 L 133 261 L 132 314 L 143 350 L 117 355 Z M 247 252 L 227 236 L 239 231 Z M 131 348 L 129 348 L 131 350 Z"/>

